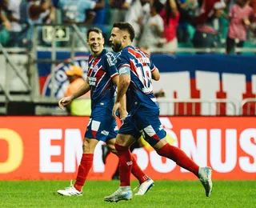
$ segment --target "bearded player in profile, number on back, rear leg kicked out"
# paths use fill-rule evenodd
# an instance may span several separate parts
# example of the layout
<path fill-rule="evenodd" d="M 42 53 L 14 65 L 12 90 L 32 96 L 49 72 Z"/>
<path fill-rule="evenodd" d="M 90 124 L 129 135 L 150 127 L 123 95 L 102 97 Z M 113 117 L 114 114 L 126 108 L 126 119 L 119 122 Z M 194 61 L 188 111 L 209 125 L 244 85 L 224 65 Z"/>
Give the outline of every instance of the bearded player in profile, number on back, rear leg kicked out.
<path fill-rule="evenodd" d="M 107 202 L 130 200 L 133 194 L 130 190 L 130 171 L 133 160 L 129 146 L 134 143 L 135 135 L 142 134 L 154 150 L 163 157 L 170 158 L 186 170 L 194 173 L 205 187 L 206 196 L 212 190 L 210 167 L 199 167 L 182 150 L 171 146 L 166 140 L 166 131 L 158 118 L 159 107 L 153 94 L 151 78 L 159 80 L 160 74 L 150 57 L 142 50 L 131 46 L 134 39 L 134 28 L 128 22 L 115 22 L 111 31 L 110 43 L 117 55 L 119 82 L 118 94 L 112 114 L 120 109 L 120 101 L 129 90 L 131 110 L 125 118 L 114 144 L 118 151 L 120 186 L 114 194 L 105 197 Z"/>

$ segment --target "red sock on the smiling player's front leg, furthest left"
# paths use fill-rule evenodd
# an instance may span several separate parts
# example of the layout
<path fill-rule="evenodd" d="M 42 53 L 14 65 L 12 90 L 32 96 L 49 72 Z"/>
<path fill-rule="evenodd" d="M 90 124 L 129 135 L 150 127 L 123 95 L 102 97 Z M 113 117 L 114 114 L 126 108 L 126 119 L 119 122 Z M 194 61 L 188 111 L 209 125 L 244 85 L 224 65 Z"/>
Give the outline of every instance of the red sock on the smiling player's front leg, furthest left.
<path fill-rule="evenodd" d="M 80 166 L 78 167 L 77 179 L 74 183 L 74 188 L 76 190 L 79 190 L 79 191 L 82 190 L 82 186 L 86 182 L 86 177 L 93 164 L 93 160 L 94 160 L 94 154 L 82 154 L 81 163 L 80 163 Z"/>

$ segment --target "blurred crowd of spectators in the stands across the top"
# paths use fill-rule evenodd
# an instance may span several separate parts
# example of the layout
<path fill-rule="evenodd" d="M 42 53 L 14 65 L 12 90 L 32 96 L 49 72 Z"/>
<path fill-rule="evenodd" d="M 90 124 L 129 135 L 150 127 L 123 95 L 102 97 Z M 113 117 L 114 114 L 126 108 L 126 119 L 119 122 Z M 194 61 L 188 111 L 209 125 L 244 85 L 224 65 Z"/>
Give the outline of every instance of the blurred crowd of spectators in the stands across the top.
<path fill-rule="evenodd" d="M 247 42 L 255 46 L 256 0 L 2 0 L 0 42 L 31 46 L 36 23 L 74 23 L 85 40 L 86 28 L 98 26 L 108 39 L 119 21 L 134 26 L 134 46 L 144 50 L 174 54 L 178 47 L 226 47 L 230 54 Z M 41 30 L 38 40 L 47 45 Z M 75 33 L 74 40 L 83 46 Z"/>

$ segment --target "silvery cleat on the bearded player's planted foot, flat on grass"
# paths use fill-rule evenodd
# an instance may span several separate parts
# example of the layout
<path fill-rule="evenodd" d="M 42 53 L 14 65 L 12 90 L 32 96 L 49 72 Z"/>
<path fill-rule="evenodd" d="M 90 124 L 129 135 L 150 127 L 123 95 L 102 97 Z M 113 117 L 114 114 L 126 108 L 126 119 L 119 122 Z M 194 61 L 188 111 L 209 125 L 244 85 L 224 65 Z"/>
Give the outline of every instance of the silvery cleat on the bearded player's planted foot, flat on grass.
<path fill-rule="evenodd" d="M 130 200 L 133 198 L 133 193 L 130 190 L 130 186 L 120 186 L 110 196 L 104 198 L 106 202 L 119 202 L 120 200 Z"/>

